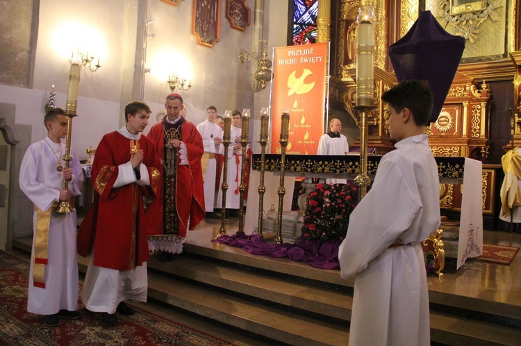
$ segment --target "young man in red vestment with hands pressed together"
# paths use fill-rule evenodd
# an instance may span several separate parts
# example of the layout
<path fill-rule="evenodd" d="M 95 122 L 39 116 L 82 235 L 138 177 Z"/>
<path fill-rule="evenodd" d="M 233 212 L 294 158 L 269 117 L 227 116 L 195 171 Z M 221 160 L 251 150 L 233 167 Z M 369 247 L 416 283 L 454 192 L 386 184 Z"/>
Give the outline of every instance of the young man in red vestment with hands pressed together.
<path fill-rule="evenodd" d="M 143 197 L 158 196 L 160 161 L 154 144 L 142 136 L 151 110 L 141 101 L 126 105 L 126 125 L 101 139 L 92 165 L 94 203 L 78 232 L 78 253 L 92 252 L 81 300 L 88 310 L 106 313 L 135 311 L 123 300 L 147 301 L 147 234 L 154 224 L 146 218 Z"/>

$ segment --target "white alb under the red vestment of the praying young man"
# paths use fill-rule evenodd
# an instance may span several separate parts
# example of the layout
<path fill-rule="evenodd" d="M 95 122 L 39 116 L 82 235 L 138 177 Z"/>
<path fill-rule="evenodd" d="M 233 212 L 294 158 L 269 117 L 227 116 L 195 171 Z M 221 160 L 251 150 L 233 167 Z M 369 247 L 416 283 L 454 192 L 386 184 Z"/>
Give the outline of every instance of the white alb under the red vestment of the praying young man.
<path fill-rule="evenodd" d="M 126 126 L 120 128 L 123 137 L 138 141 L 141 133 L 133 135 Z M 117 148 L 113 148 L 117 150 Z M 130 158 L 129 158 L 130 159 Z M 140 180 L 135 177 L 134 169 L 130 162 L 119 165 L 118 175 L 113 188 L 138 182 L 140 185 L 149 185 L 149 173 L 147 167 L 140 166 Z M 115 239 L 117 241 L 117 239 Z M 148 278 L 147 262 L 131 270 L 115 270 L 94 266 L 94 251 L 90 254 L 89 266 L 85 274 L 85 282 L 81 291 L 81 301 L 89 311 L 115 313 L 117 305 L 126 300 L 147 302 Z"/>

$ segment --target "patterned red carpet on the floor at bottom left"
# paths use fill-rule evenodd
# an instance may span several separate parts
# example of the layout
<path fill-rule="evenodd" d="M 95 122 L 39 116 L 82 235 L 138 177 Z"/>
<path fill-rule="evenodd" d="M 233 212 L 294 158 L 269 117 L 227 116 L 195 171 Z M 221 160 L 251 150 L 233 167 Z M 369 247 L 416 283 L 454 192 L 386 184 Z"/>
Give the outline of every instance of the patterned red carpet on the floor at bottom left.
<path fill-rule="evenodd" d="M 28 271 L 28 263 L 0 251 L 0 345 L 232 345 L 142 309 L 105 327 L 81 302 L 81 319 L 46 327 L 26 311 Z"/>

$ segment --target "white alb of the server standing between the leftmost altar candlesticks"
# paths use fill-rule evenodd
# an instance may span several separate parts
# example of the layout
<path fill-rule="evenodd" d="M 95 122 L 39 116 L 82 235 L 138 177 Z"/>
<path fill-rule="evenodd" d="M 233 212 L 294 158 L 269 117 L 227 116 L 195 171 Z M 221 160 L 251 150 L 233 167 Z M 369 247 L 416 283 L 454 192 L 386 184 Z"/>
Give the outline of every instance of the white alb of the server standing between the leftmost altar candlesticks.
<path fill-rule="evenodd" d="M 240 138 L 242 129 L 235 126 L 230 128 L 230 146 L 228 147 L 228 155 L 224 159 L 228 159 L 228 169 L 226 170 L 226 180 L 228 180 L 228 190 L 226 191 L 226 208 L 239 209 L 240 207 L 240 171 L 242 169 L 242 147 L 238 150 L 233 150 L 235 138 Z M 246 147 L 248 148 L 248 146 Z M 223 168 L 224 169 L 224 168 Z M 224 179 L 224 174 L 221 174 L 221 183 Z M 237 193 L 235 193 L 237 192 Z M 219 197 L 217 198 L 217 206 L 222 207 L 222 190 L 219 190 Z"/>

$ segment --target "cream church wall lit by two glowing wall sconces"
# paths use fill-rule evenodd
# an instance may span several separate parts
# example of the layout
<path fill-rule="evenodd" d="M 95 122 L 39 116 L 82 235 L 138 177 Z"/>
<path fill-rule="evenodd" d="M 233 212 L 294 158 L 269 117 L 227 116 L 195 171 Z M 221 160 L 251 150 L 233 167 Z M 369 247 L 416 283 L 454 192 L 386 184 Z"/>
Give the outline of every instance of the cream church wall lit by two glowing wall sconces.
<path fill-rule="evenodd" d="M 65 107 L 71 47 L 80 43 L 96 56 L 94 62 L 100 58 L 101 68 L 96 72 L 82 69 L 72 146 L 81 159 L 86 159 L 88 146 L 97 146 L 106 132 L 119 128 L 120 107 L 131 101 L 120 100 L 122 42 L 125 30 L 135 30 L 125 28 L 125 14 L 129 6 L 143 1 L 148 6 L 147 17 L 154 18 L 154 24 L 149 25 L 154 38 L 147 40 L 144 63 L 151 69 L 144 76 L 144 101 L 151 105 L 152 115 L 163 108 L 170 92 L 166 81 L 174 70 L 169 67 L 172 62 L 192 75 L 193 87 L 180 93 L 193 123 L 206 119 L 208 105 L 215 105 L 220 114 L 228 108 L 254 109 L 254 93 L 249 86 L 251 64 L 241 64 L 238 59 L 240 49 L 251 49 L 254 43 L 254 0 L 247 1 L 252 24 L 243 32 L 230 28 L 225 17 L 226 1 L 222 1 L 221 37 L 212 49 L 197 45 L 191 34 L 192 1 L 172 6 L 159 0 L 40 0 L 40 12 L 33 14 L 39 22 L 32 87 L 0 85 L 0 102 L 16 106 L 15 123 L 32 126 L 31 142 L 46 135 L 42 118 L 51 85 L 55 85 L 56 105 Z M 179 60 L 185 64 L 176 63 Z M 149 127 L 156 123 L 152 118 Z"/>

